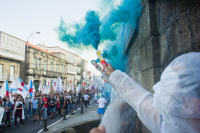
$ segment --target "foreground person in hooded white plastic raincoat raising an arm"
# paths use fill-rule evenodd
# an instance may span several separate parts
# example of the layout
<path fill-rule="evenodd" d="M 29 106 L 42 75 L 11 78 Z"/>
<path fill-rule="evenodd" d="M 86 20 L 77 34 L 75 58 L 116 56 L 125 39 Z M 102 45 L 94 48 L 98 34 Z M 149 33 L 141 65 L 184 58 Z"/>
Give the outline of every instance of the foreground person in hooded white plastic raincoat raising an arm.
<path fill-rule="evenodd" d="M 200 53 L 174 59 L 153 86 L 154 95 L 109 64 L 106 75 L 152 133 L 200 133 Z M 103 127 L 91 133 L 106 132 Z"/>

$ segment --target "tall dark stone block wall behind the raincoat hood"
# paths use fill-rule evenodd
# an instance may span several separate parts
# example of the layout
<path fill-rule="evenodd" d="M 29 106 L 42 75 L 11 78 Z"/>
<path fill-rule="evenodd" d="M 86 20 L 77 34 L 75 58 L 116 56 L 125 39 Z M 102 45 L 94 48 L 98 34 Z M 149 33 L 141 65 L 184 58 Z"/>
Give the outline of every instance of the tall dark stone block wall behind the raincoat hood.
<path fill-rule="evenodd" d="M 142 6 L 138 29 L 124 50 L 128 55 L 126 72 L 154 93 L 153 85 L 174 58 L 200 51 L 200 1 L 142 0 Z M 137 127 L 140 132 L 150 132 L 141 124 Z"/>

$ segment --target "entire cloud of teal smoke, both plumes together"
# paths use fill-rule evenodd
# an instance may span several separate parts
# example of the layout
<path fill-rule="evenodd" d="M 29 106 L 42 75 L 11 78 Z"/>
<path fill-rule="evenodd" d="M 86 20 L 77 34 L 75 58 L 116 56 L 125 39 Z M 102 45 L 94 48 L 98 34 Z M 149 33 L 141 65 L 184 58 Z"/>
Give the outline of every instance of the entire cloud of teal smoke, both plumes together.
<path fill-rule="evenodd" d="M 103 0 L 112 2 L 113 0 Z M 133 29 L 137 27 L 137 21 L 141 14 L 140 0 L 122 0 L 121 3 L 102 18 L 95 11 L 89 11 L 85 17 L 85 24 L 67 25 L 63 20 L 57 28 L 59 39 L 67 42 L 68 46 L 80 48 L 92 45 L 98 48 L 100 41 L 105 44 L 102 51 L 103 57 L 115 69 L 125 71 L 126 55 L 123 54 L 124 38 L 122 29 L 124 24 L 129 24 Z M 73 27 L 73 33 L 70 29 Z M 129 34 L 127 34 L 129 36 Z M 96 62 L 99 62 L 97 59 Z"/>

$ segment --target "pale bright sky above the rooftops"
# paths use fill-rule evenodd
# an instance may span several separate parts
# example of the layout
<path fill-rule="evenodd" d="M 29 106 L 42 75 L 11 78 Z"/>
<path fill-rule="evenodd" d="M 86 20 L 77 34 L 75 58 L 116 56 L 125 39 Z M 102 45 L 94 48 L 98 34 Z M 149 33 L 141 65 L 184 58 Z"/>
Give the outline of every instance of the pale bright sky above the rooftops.
<path fill-rule="evenodd" d="M 100 75 L 90 63 L 97 59 L 95 50 L 74 51 L 58 40 L 55 28 L 62 17 L 66 23 L 80 22 L 88 10 L 99 11 L 100 0 L 0 0 L 0 31 L 24 41 L 45 46 L 59 46 L 86 59 L 88 69 Z"/>

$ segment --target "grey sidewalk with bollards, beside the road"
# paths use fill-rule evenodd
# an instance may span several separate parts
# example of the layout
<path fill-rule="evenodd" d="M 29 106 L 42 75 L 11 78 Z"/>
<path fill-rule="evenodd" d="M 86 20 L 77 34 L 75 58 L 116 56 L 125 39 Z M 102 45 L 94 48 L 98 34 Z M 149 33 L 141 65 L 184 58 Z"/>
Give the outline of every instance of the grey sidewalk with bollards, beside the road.
<path fill-rule="evenodd" d="M 78 108 L 74 115 L 68 115 L 67 120 L 59 120 L 48 127 L 48 131 L 42 131 L 40 133 L 59 133 L 68 127 L 78 125 L 83 122 L 97 120 L 98 106 L 94 103 L 90 104 L 87 108 L 83 107 L 84 114 L 80 114 L 81 109 Z"/>

